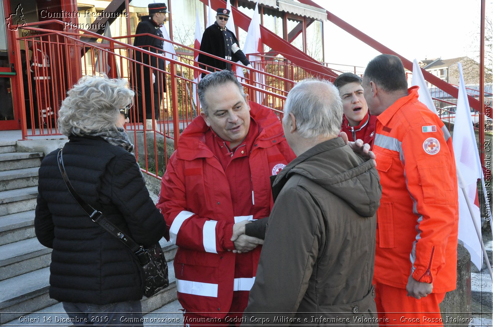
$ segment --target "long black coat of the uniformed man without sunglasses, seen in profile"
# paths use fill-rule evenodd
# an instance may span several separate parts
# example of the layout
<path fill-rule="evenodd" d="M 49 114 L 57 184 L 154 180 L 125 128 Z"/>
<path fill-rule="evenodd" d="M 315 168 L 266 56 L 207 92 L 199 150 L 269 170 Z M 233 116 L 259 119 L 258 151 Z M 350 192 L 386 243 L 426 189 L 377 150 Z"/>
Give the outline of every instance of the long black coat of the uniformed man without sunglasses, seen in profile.
<path fill-rule="evenodd" d="M 139 25 L 137 25 L 137 29 L 136 29 L 135 33 L 136 34 L 149 33 L 152 35 L 163 37 L 163 33 L 160 30 L 160 25 L 157 25 L 156 22 L 154 22 L 152 20 L 151 16 L 143 16 L 141 18 L 141 22 L 139 23 Z M 142 35 L 142 36 L 135 37 L 134 46 L 140 47 L 144 50 L 148 50 L 150 52 L 154 52 L 157 54 L 164 54 L 163 40 L 152 37 L 152 36 Z M 158 69 L 165 70 L 165 68 L 166 68 L 164 57 L 163 58 L 156 58 L 153 56 L 142 55 L 141 52 L 136 52 L 135 59 L 137 61 L 141 62 L 142 64 L 151 65 L 151 66 L 156 67 Z M 139 74 L 140 69 L 137 69 L 137 73 L 138 73 L 138 80 L 140 80 L 140 76 L 139 76 L 140 75 Z M 147 73 L 147 71 L 146 71 L 146 69 L 144 69 L 144 78 L 145 78 L 144 83 L 148 83 L 147 82 L 148 78 L 147 78 L 146 73 Z M 157 74 L 156 72 L 154 72 L 154 74 L 156 75 L 156 78 L 157 78 L 157 76 L 160 76 L 162 79 L 161 83 L 157 83 L 157 81 L 156 81 L 156 83 L 154 83 L 154 87 L 153 87 L 154 92 L 166 91 L 165 75 L 163 73 Z"/>

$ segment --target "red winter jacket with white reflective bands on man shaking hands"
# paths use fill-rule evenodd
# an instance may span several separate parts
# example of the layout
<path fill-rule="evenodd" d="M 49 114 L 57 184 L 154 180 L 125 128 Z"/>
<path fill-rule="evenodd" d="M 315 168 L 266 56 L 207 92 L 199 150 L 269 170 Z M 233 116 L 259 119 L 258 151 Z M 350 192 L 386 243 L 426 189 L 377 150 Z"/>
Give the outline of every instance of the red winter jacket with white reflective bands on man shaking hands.
<path fill-rule="evenodd" d="M 228 180 L 216 154 L 205 144 L 209 127 L 200 116 L 180 135 L 157 204 L 170 239 L 178 246 L 174 262 L 178 300 L 187 312 L 207 317 L 224 318 L 233 291 L 249 291 L 253 285 L 261 246 L 252 251 L 253 276 L 235 279 L 237 255 L 227 251 L 232 224 L 269 216 L 273 206 L 269 177 L 295 158 L 276 115 L 259 104 L 249 105 L 259 133 L 248 157 L 251 176 L 238 178 L 252 185 L 252 215 L 234 217 Z"/>

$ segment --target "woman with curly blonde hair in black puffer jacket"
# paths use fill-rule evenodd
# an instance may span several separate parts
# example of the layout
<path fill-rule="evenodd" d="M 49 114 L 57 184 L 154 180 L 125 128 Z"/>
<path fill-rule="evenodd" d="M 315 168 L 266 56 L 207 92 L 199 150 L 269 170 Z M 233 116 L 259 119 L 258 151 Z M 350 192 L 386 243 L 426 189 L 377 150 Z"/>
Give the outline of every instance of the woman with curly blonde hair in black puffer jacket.
<path fill-rule="evenodd" d="M 123 128 L 132 98 L 122 79 L 85 76 L 62 102 L 58 126 L 69 137 L 63 161 L 76 193 L 145 247 L 161 239 L 166 224 Z M 141 267 L 70 195 L 57 153 L 47 155 L 39 168 L 35 213 L 36 237 L 53 249 L 50 297 L 63 302 L 76 325 L 142 326 Z"/>

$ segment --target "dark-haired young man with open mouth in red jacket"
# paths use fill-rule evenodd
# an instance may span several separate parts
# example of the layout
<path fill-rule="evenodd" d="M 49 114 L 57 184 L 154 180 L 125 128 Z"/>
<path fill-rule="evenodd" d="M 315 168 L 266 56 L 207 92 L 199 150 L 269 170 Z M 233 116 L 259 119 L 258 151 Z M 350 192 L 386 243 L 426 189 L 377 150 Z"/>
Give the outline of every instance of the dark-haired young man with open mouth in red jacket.
<path fill-rule="evenodd" d="M 377 116 L 368 111 L 361 77 L 349 72 L 342 73 L 335 79 L 334 85 L 339 89 L 344 109 L 341 131 L 346 132 L 350 141 L 361 139 L 373 148 Z"/>

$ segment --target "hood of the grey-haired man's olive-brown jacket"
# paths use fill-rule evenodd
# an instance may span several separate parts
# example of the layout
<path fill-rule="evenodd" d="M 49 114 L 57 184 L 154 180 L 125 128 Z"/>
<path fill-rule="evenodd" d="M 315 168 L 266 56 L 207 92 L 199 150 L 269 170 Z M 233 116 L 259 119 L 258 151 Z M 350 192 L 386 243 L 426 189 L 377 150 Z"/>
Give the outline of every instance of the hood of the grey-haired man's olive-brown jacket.
<path fill-rule="evenodd" d="M 372 217 L 380 205 L 382 187 L 373 162 L 354 154 L 340 137 L 317 144 L 284 167 L 273 183 L 273 192 L 293 174 L 339 196 L 360 216 Z"/>

